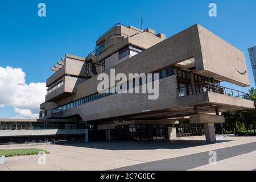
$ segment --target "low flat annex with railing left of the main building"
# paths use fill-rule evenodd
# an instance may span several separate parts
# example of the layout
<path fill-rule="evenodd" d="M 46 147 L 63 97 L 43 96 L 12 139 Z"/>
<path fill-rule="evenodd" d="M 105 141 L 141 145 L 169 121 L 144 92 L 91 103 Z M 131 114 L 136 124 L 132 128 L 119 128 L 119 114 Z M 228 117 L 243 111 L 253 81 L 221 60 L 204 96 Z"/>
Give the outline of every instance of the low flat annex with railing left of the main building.
<path fill-rule="evenodd" d="M 0 119 L 0 144 L 44 143 L 82 140 L 88 142 L 88 129 L 64 119 L 38 122 L 37 119 Z"/>

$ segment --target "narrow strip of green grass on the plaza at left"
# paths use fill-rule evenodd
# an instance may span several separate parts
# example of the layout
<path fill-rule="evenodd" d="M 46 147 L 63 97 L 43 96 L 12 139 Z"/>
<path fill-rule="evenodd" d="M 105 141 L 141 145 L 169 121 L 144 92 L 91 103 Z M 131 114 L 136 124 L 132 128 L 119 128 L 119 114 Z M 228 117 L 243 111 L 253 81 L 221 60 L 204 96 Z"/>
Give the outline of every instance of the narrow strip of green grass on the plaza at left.
<path fill-rule="evenodd" d="M 25 148 L 25 149 L 14 149 L 14 150 L 0 150 L 0 155 L 7 157 L 18 156 L 18 155 L 37 155 L 39 151 L 44 151 L 49 154 L 48 151 L 39 148 Z"/>

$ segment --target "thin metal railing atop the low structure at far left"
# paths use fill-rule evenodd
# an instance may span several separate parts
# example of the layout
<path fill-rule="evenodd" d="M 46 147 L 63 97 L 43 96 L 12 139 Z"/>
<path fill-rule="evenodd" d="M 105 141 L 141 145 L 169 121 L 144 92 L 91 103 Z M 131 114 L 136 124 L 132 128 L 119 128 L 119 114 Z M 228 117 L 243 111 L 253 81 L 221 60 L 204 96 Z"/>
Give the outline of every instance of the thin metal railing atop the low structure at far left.
<path fill-rule="evenodd" d="M 56 130 L 60 125 L 0 125 L 0 130 Z"/>

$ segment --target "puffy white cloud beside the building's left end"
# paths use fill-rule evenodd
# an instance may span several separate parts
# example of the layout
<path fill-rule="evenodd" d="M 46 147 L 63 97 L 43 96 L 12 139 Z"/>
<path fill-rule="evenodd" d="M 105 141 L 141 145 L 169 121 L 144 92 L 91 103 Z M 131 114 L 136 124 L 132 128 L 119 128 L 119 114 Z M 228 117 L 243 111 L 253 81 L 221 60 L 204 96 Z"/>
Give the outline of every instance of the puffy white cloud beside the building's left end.
<path fill-rule="evenodd" d="M 13 106 L 17 117 L 38 118 L 46 96 L 46 83 L 26 84 L 21 68 L 0 67 L 0 107 Z"/>

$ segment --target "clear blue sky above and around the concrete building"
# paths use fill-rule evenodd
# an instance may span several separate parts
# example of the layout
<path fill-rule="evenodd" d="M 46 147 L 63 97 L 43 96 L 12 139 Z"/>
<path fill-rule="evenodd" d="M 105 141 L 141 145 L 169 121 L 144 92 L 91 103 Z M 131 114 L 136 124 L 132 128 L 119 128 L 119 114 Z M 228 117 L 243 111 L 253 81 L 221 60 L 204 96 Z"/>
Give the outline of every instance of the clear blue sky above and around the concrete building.
<path fill-rule="evenodd" d="M 38 16 L 40 2 L 46 3 L 45 18 Z M 208 16 L 210 2 L 217 4 L 217 17 Z M 255 7 L 255 0 L 1 1 L 0 67 L 22 68 L 27 84 L 45 82 L 60 57 L 65 53 L 88 55 L 97 38 L 115 23 L 139 27 L 142 9 L 143 27 L 167 37 L 200 23 L 241 49 L 251 86 L 255 86 L 247 52 L 247 48 L 256 46 Z M 232 87 L 245 92 L 249 89 Z M 4 117 L 15 117 L 12 106 L 0 107 L 0 118 Z"/>

